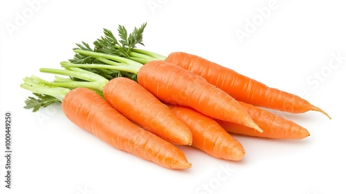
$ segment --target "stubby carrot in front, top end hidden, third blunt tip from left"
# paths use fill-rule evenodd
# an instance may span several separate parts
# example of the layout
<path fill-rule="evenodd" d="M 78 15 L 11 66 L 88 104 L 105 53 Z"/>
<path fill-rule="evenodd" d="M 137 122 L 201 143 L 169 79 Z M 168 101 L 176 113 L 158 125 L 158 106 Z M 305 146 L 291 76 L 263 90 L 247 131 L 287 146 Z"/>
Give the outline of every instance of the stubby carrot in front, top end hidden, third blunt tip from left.
<path fill-rule="evenodd" d="M 242 144 L 212 118 L 189 107 L 170 105 L 170 108 L 190 128 L 195 148 L 222 159 L 238 161 L 244 157 Z"/>

